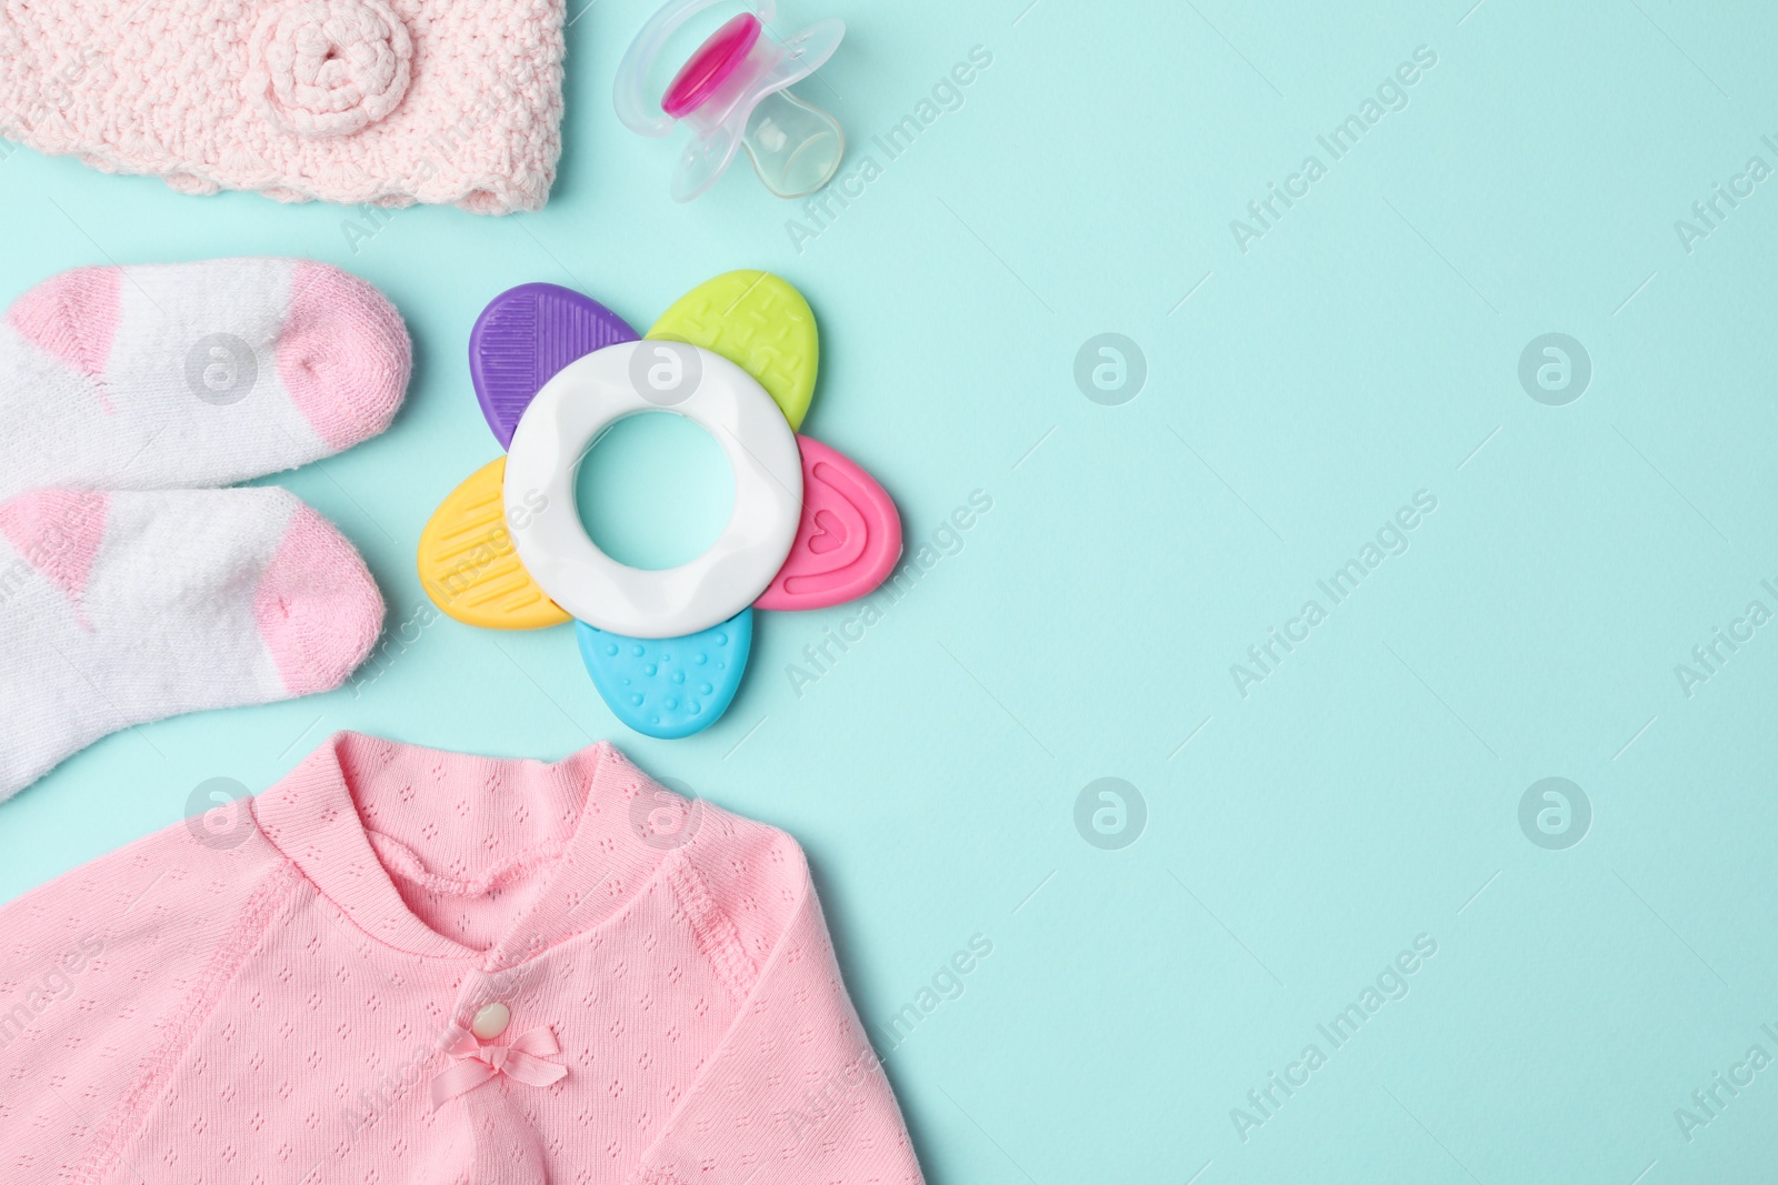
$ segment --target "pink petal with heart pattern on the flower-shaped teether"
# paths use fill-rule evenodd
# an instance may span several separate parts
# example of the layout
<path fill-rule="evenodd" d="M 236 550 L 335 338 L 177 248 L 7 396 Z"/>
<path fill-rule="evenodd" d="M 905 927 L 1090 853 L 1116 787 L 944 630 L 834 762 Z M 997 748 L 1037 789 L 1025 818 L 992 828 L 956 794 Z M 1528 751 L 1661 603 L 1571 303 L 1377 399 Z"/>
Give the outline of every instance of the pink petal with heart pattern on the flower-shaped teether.
<path fill-rule="evenodd" d="M 882 585 L 901 558 L 901 515 L 884 487 L 836 449 L 797 437 L 802 522 L 789 558 L 754 602 L 761 609 L 825 609 Z"/>

